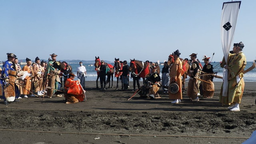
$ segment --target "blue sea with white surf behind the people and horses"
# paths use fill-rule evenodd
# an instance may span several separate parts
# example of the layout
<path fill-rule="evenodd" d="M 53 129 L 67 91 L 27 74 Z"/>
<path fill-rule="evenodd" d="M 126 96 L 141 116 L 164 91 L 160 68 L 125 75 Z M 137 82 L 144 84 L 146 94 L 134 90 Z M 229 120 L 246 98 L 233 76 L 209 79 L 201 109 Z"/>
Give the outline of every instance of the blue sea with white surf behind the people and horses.
<path fill-rule="evenodd" d="M 90 66 L 90 64 L 92 63 L 83 63 L 83 65 L 86 67 L 86 73 L 87 73 L 87 78 L 86 81 L 96 81 L 97 79 L 97 72 L 95 71 L 95 67 L 94 64 L 92 64 L 93 66 Z M 110 63 L 112 65 L 114 65 L 113 63 Z M 202 66 L 204 65 L 204 63 L 202 63 Z M 222 70 L 223 68 L 220 67 L 220 62 L 212 62 L 211 63 L 214 67 L 214 72 L 218 72 L 217 76 L 223 76 L 222 74 Z M 129 63 L 128 63 L 129 65 Z M 70 64 L 70 66 L 72 66 L 72 72 L 74 72 L 76 74 L 76 69 L 79 66 L 79 64 Z M 252 62 L 247 62 L 247 65 L 245 67 L 245 70 L 250 68 L 252 66 Z M 164 66 L 160 65 L 160 76 L 162 76 L 161 72 L 162 72 L 162 68 Z M 113 78 L 114 81 L 116 81 L 116 78 Z M 222 82 L 223 80 L 220 78 L 214 78 L 213 80 L 214 82 Z M 251 70 L 250 72 L 247 72 L 246 74 L 244 74 L 244 81 L 245 82 L 256 82 L 256 68 L 254 68 L 253 70 Z"/>

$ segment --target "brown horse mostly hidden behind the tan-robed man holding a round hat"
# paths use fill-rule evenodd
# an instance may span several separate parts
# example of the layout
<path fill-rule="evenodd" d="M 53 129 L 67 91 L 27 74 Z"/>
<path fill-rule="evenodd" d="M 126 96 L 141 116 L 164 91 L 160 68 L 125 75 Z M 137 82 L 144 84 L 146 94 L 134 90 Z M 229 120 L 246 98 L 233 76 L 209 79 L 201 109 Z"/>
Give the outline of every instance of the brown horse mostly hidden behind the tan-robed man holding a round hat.
<path fill-rule="evenodd" d="M 183 60 L 182 58 L 180 58 L 180 60 L 182 61 L 182 69 L 185 71 L 184 74 L 182 75 L 182 93 L 185 92 L 185 80 L 187 78 L 187 75 L 189 74 L 189 70 L 190 70 L 190 65 L 188 64 L 188 62 L 186 60 Z M 168 62 L 167 62 L 167 66 L 171 66 L 171 64 L 174 62 L 172 54 L 169 55 L 168 58 Z"/>

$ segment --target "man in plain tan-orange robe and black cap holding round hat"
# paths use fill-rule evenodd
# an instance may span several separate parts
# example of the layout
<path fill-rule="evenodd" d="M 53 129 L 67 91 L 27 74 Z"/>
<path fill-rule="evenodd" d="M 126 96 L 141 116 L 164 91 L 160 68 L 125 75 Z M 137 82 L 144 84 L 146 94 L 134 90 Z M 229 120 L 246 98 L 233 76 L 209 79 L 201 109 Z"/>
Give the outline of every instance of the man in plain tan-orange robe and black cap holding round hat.
<path fill-rule="evenodd" d="M 182 99 L 182 80 L 181 76 L 184 74 L 184 71 L 182 70 L 182 62 L 180 60 L 180 51 L 176 50 L 173 53 L 174 56 L 174 63 L 170 67 L 170 84 L 176 83 L 179 86 L 179 90 L 177 93 L 171 93 L 169 91 L 169 99 L 175 99 L 171 103 L 180 103 L 180 99 Z"/>

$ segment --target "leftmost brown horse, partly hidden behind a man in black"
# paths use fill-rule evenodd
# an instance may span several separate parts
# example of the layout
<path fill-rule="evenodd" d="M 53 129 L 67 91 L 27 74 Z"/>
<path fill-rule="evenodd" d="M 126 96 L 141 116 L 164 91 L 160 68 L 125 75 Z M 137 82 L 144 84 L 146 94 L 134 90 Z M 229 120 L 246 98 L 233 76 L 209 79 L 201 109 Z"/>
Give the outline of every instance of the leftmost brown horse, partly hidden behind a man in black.
<path fill-rule="evenodd" d="M 98 90 L 99 87 L 98 87 L 98 80 L 100 78 L 99 76 L 99 72 L 98 72 L 98 69 L 100 68 L 100 57 L 98 56 L 98 58 L 95 56 L 95 63 L 94 63 L 94 66 L 95 66 L 95 70 L 97 71 L 97 79 L 96 79 L 96 89 Z M 111 81 L 112 81 L 112 85 L 111 85 L 111 88 L 113 88 L 113 75 L 114 75 L 114 66 L 112 66 L 111 64 L 108 64 L 108 63 L 105 63 L 105 65 L 107 66 L 107 68 L 109 68 L 110 70 L 106 73 L 107 74 L 107 81 L 106 81 L 106 84 L 109 83 L 109 86 L 108 88 L 110 88 L 110 78 L 111 78 Z"/>

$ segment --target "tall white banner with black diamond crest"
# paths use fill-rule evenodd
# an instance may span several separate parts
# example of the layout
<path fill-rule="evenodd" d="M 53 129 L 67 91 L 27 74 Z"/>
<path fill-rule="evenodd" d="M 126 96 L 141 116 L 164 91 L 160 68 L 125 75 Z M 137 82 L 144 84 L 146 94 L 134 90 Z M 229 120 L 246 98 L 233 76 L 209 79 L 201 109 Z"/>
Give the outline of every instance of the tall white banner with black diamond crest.
<path fill-rule="evenodd" d="M 227 62 L 230 46 L 234 38 L 236 20 L 240 9 L 241 1 L 224 2 L 221 16 L 221 39 L 224 58 Z M 228 95 L 228 70 L 223 69 L 223 92 L 222 96 Z"/>

